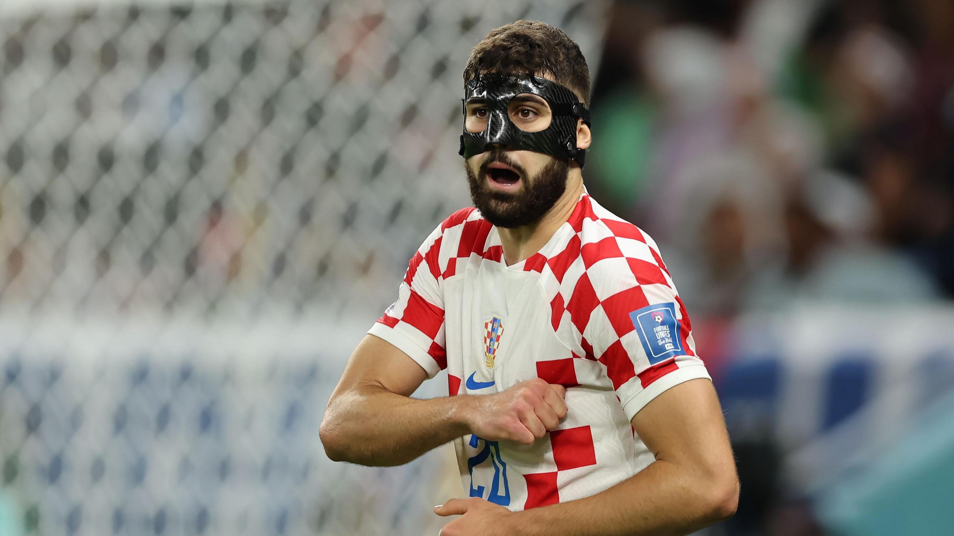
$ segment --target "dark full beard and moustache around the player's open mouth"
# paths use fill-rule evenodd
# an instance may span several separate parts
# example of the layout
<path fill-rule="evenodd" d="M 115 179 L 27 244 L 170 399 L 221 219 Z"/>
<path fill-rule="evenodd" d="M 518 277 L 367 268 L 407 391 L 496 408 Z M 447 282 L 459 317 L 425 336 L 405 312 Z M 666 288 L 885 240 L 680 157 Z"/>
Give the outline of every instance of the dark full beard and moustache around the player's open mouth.
<path fill-rule="evenodd" d="M 516 170 L 521 178 L 520 190 L 516 193 L 494 192 L 487 186 L 487 166 L 492 162 L 501 162 Z M 488 151 L 475 175 L 467 160 L 464 161 L 467 172 L 467 185 L 470 199 L 487 221 L 497 227 L 512 229 L 522 227 L 540 219 L 552 208 L 560 196 L 567 191 L 567 177 L 570 164 L 552 158 L 536 175 L 530 177 L 527 171 L 503 151 Z"/>

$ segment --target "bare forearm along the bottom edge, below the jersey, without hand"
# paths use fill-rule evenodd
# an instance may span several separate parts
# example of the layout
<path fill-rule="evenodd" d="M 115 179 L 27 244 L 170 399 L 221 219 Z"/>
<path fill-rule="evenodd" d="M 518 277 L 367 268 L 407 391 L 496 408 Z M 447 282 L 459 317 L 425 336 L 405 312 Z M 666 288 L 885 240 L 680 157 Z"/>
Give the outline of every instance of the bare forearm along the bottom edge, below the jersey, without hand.
<path fill-rule="evenodd" d="M 520 534 L 528 536 L 670 536 L 728 518 L 735 511 L 736 497 L 734 477 L 719 482 L 658 460 L 606 491 L 516 517 Z"/>

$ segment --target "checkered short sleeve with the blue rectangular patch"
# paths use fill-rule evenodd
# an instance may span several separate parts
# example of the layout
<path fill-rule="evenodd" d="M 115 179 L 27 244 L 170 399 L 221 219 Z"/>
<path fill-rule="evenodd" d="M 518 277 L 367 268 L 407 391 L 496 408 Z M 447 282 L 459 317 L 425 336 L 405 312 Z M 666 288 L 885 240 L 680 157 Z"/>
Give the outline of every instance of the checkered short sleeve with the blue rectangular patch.
<path fill-rule="evenodd" d="M 710 379 L 695 353 L 689 313 L 653 242 L 632 224 L 609 222 L 608 235 L 583 246 L 594 302 L 583 344 L 604 363 L 628 419 L 670 387 Z M 593 253 L 593 252 L 598 253 Z M 587 259 L 589 257 L 589 259 Z"/>

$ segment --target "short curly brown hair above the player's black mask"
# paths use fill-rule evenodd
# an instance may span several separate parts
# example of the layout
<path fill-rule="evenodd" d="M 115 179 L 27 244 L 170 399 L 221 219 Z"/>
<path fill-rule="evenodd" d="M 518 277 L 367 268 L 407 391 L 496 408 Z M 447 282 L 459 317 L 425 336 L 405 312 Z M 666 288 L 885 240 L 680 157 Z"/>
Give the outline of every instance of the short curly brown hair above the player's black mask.
<path fill-rule="evenodd" d="M 549 73 L 590 106 L 590 68 L 579 45 L 555 26 L 518 20 L 491 30 L 467 57 L 464 82 L 482 72 Z"/>

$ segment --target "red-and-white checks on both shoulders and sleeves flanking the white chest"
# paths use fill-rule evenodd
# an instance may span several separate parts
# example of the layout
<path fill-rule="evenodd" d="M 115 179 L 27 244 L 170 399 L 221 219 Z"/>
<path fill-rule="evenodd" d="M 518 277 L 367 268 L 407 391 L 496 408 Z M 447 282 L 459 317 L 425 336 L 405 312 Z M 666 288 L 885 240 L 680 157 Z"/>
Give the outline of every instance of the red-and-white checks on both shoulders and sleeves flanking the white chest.
<path fill-rule="evenodd" d="M 431 377 L 446 368 L 443 281 L 458 275 L 465 261 L 502 262 L 500 238 L 492 230 L 474 208 L 447 217 L 411 258 L 398 300 L 378 320 L 398 335 L 381 328 L 372 330 L 385 339 L 397 340 L 396 345 Z M 662 392 L 645 392 L 655 381 L 679 367 L 702 364 L 695 356 L 689 315 L 653 238 L 601 207 L 591 196 L 580 198 L 547 247 L 523 261 L 523 270 L 540 274 L 553 331 L 573 357 L 606 366 L 631 418 Z M 666 302 L 676 304 L 685 354 L 653 364 L 629 314 Z M 450 380 L 450 386 L 455 382 L 459 386 L 460 378 Z"/>

